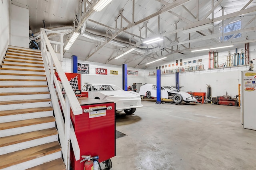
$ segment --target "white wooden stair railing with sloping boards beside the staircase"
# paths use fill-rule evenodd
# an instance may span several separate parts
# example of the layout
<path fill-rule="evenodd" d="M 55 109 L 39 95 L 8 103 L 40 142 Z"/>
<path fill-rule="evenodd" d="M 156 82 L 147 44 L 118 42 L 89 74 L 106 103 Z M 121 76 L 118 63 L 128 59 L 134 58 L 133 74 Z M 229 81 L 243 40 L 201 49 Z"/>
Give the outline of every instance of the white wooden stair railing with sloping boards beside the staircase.
<path fill-rule="evenodd" d="M 46 31 L 57 33 L 60 35 L 60 42 L 50 41 L 46 35 Z M 56 31 L 51 31 L 48 29 L 41 28 L 41 53 L 44 61 L 44 68 L 46 71 L 46 78 L 51 94 L 52 106 L 54 109 L 54 114 L 56 118 L 56 124 L 58 128 L 58 133 L 60 137 L 60 145 L 62 147 L 62 153 L 64 156 L 64 163 L 66 164 L 66 169 L 69 170 L 69 160 L 70 160 L 70 140 L 72 143 L 72 148 L 75 154 L 75 159 L 80 159 L 80 148 L 74 133 L 74 128 L 70 121 L 70 110 L 74 115 L 82 114 L 82 107 L 80 106 L 74 91 L 72 90 L 68 78 L 64 73 L 62 66 L 52 48 L 52 44 L 60 45 L 60 59 L 62 60 L 63 51 L 63 33 Z M 62 95 L 62 88 L 56 78 L 55 71 L 58 72 L 58 76 L 62 82 L 62 88 L 65 90 L 65 99 Z M 58 95 L 57 95 L 58 94 Z M 60 108 L 60 106 L 62 108 Z M 62 111 L 64 117 L 62 116 Z M 65 118 L 65 122 L 64 122 Z M 72 138 L 70 138 L 72 136 Z"/>

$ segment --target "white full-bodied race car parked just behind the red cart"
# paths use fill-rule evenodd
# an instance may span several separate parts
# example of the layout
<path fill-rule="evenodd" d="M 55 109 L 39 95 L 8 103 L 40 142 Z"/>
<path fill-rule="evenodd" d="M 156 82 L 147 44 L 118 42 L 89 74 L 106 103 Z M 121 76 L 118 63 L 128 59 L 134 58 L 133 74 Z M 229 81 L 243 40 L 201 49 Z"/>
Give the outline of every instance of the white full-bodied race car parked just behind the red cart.
<path fill-rule="evenodd" d="M 115 102 L 116 110 L 124 110 L 126 115 L 131 115 L 136 108 L 143 107 L 140 94 L 124 91 L 113 84 L 85 84 L 82 91 L 88 92 L 88 98 Z"/>

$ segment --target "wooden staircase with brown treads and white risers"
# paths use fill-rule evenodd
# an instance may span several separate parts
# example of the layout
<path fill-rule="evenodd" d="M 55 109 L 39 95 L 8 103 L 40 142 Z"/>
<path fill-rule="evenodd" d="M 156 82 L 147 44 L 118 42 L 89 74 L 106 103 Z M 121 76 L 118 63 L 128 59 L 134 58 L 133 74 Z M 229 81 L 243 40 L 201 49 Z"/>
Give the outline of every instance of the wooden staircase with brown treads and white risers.
<path fill-rule="evenodd" d="M 0 169 L 66 169 L 38 50 L 9 46 L 0 68 Z"/>

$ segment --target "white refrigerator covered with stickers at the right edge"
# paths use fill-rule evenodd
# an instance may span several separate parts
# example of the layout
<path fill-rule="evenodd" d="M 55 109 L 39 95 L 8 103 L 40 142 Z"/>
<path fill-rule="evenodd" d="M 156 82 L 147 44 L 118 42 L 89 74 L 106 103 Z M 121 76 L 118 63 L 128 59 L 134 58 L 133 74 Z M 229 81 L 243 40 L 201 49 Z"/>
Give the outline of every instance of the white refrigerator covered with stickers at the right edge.
<path fill-rule="evenodd" d="M 241 124 L 256 130 L 256 71 L 241 72 Z"/>

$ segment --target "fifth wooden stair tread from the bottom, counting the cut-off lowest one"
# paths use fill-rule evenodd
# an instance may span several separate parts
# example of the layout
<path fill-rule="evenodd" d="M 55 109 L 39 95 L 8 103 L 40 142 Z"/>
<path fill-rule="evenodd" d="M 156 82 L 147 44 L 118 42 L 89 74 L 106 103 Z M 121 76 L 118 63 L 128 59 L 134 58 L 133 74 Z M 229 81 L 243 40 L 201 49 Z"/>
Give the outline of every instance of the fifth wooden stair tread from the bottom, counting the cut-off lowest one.
<path fill-rule="evenodd" d="M 0 116 L 7 115 L 18 115 L 18 114 L 26 114 L 26 113 L 35 113 L 40 111 L 52 111 L 52 107 L 36 107 L 36 108 L 28 108 L 28 109 L 16 109 L 16 110 L 4 110 L 0 111 Z"/>

